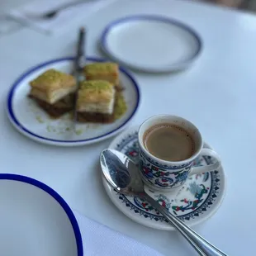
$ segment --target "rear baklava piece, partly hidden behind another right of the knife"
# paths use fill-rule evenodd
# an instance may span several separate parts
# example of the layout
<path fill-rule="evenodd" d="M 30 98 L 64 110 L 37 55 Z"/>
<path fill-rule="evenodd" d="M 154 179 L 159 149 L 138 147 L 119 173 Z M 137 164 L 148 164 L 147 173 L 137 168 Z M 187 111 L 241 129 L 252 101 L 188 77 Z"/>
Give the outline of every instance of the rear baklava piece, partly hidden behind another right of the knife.
<path fill-rule="evenodd" d="M 84 67 L 83 73 L 86 80 L 105 80 L 114 86 L 119 86 L 119 67 L 112 62 L 101 62 L 88 64 Z"/>

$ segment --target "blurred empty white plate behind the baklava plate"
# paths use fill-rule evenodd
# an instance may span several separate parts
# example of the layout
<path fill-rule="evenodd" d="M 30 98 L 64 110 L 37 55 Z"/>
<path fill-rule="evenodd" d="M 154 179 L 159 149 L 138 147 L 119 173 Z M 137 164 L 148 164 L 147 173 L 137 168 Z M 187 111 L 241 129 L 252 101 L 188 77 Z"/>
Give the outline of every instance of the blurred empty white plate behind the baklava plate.
<path fill-rule="evenodd" d="M 192 28 L 149 15 L 111 22 L 102 33 L 101 46 L 112 59 L 146 72 L 186 69 L 201 52 L 200 37 Z"/>

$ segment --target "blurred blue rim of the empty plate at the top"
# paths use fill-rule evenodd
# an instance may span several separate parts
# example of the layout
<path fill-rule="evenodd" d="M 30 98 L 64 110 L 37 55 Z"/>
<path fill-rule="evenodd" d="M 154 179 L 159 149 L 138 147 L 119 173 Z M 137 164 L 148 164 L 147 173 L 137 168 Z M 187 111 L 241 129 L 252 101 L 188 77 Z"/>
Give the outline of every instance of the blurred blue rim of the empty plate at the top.
<path fill-rule="evenodd" d="M 101 43 L 102 49 L 107 53 L 107 55 L 111 55 L 111 50 L 107 46 L 107 34 L 111 31 L 111 29 L 114 26 L 120 25 L 121 23 L 125 23 L 127 21 L 128 22 L 129 21 L 162 21 L 165 23 L 173 24 L 175 26 L 179 26 L 179 27 L 183 28 L 184 30 L 189 31 L 192 34 L 192 36 L 194 36 L 195 39 L 197 40 L 198 49 L 197 49 L 197 52 L 195 53 L 195 55 L 193 55 L 190 59 L 187 59 L 186 61 L 183 61 L 183 62 L 179 62 L 178 65 L 180 65 L 180 66 L 187 64 L 188 62 L 191 62 L 193 59 L 195 59 L 197 57 L 197 55 L 199 55 L 201 53 L 201 50 L 202 50 L 201 37 L 190 26 L 187 26 L 187 25 L 183 24 L 183 22 L 171 19 L 169 17 L 141 14 L 141 15 L 135 15 L 135 16 L 117 19 L 115 21 L 112 21 L 110 24 L 108 24 L 105 27 L 104 31 L 102 32 L 102 36 L 100 38 L 100 43 Z M 113 55 L 111 55 L 111 56 L 113 56 Z M 121 61 L 120 59 L 118 59 L 118 60 Z M 123 63 L 123 62 L 121 61 L 121 63 Z M 173 65 L 173 66 L 176 66 L 176 65 Z M 152 69 L 151 71 L 154 71 L 154 69 Z"/>

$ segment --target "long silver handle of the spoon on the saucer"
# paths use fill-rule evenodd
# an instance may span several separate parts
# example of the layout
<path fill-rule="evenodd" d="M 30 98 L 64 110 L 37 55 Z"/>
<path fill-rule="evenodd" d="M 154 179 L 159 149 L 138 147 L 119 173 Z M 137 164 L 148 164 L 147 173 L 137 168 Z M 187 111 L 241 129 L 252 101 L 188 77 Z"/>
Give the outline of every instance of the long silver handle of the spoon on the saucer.
<path fill-rule="evenodd" d="M 214 245 L 210 244 L 206 239 L 203 239 L 201 235 L 198 235 L 194 230 L 189 228 L 183 223 L 183 221 L 178 220 L 177 217 L 173 216 L 164 206 L 159 205 L 158 201 L 155 201 L 152 197 L 149 197 L 147 193 L 140 194 L 144 197 L 151 206 L 157 209 L 163 214 L 163 216 L 187 239 L 187 241 L 192 245 L 197 253 L 201 256 L 227 256 L 217 249 Z"/>

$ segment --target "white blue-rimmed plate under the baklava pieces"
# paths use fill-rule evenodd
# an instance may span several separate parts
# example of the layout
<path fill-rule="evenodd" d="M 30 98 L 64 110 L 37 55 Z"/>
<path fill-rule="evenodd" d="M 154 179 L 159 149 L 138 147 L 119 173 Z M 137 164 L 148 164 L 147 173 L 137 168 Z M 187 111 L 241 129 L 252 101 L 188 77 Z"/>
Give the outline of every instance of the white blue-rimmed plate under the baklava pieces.
<path fill-rule="evenodd" d="M 87 63 L 102 62 L 103 59 L 88 58 Z M 140 103 L 140 91 L 135 78 L 120 68 L 120 80 L 127 104 L 125 115 L 111 124 L 76 124 L 74 132 L 73 120 L 70 114 L 59 119 L 51 119 L 45 111 L 27 97 L 29 82 L 47 69 L 58 69 L 71 73 L 73 58 L 53 59 L 21 74 L 12 85 L 7 97 L 7 115 L 12 125 L 26 137 L 41 143 L 59 146 L 77 146 L 92 144 L 105 140 L 123 130 L 131 121 Z"/>

